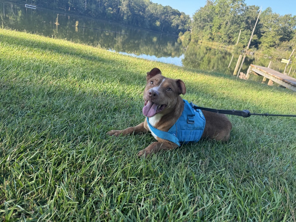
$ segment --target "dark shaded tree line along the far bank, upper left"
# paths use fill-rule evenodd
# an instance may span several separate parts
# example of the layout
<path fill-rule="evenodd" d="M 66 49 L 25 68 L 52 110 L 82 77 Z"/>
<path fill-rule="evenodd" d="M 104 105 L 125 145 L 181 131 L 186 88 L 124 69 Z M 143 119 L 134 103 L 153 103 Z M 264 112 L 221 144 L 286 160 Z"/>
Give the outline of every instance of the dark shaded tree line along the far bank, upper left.
<path fill-rule="evenodd" d="M 19 0 L 19 2 L 175 35 L 186 31 L 191 22 L 189 15 L 184 12 L 149 0 Z"/>

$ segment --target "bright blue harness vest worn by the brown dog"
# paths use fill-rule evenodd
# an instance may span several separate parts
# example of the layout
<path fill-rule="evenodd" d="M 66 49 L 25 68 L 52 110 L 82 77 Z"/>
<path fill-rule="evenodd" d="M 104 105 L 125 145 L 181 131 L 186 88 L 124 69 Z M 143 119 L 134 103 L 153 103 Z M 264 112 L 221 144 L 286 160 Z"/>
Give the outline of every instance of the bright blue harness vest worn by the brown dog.
<path fill-rule="evenodd" d="M 205 117 L 202 114 L 202 111 L 195 110 L 193 108 L 194 104 L 192 104 L 192 102 L 189 104 L 187 100 L 183 99 L 183 101 L 184 110 L 182 115 L 168 132 L 161 131 L 153 127 L 149 123 L 149 118 L 147 117 L 147 123 L 150 127 L 150 130 L 157 137 L 171 141 L 175 144 L 178 144 L 178 146 L 191 141 L 199 141 L 205 129 Z"/>

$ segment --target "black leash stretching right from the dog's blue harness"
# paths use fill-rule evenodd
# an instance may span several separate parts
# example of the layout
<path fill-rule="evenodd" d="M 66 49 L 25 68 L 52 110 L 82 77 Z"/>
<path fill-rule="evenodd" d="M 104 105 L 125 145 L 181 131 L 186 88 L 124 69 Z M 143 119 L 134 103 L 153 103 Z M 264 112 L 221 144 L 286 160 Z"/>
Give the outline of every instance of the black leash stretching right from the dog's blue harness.
<path fill-rule="evenodd" d="M 215 113 L 221 113 L 221 114 L 227 114 L 227 115 L 236 115 L 236 116 L 242 116 L 242 117 L 249 117 L 251 115 L 256 116 L 288 116 L 288 117 L 296 117 L 296 115 L 280 115 L 280 114 L 268 114 L 268 113 L 250 113 L 249 110 L 216 110 L 216 109 L 210 109 L 205 107 L 198 107 L 196 105 L 193 105 L 193 108 L 195 110 L 205 110 L 209 112 L 215 112 Z"/>

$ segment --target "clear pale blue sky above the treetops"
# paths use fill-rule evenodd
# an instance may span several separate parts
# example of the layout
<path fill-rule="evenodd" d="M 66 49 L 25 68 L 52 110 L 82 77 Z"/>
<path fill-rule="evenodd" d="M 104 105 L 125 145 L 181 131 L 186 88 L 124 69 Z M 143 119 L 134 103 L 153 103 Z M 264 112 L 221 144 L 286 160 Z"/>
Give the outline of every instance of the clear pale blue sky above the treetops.
<path fill-rule="evenodd" d="M 192 15 L 200 8 L 205 6 L 206 0 L 151 0 L 153 3 L 162 4 L 163 6 L 169 5 L 173 9 L 178 9 L 186 15 Z M 280 15 L 292 14 L 296 15 L 296 1 L 280 1 L 280 0 L 245 0 L 247 5 L 257 5 L 265 10 L 271 7 L 273 12 Z"/>

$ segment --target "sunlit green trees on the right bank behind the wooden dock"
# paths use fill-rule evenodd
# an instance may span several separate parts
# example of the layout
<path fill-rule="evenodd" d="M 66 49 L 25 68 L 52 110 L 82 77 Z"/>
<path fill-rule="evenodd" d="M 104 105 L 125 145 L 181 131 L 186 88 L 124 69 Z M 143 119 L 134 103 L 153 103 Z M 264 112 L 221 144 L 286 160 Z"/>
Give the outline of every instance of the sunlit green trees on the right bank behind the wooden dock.
<path fill-rule="evenodd" d="M 207 0 L 205 6 L 193 16 L 192 31 L 180 34 L 182 43 L 187 45 L 190 41 L 214 41 L 225 45 L 237 44 L 239 48 L 244 48 L 249 42 L 259 12 L 258 6 L 248 6 L 244 0 Z M 296 16 L 279 15 L 272 12 L 270 7 L 262 11 L 250 50 L 259 49 L 271 56 L 276 51 L 291 51 L 295 47 Z"/>

